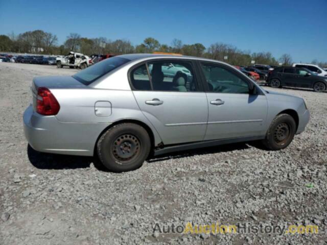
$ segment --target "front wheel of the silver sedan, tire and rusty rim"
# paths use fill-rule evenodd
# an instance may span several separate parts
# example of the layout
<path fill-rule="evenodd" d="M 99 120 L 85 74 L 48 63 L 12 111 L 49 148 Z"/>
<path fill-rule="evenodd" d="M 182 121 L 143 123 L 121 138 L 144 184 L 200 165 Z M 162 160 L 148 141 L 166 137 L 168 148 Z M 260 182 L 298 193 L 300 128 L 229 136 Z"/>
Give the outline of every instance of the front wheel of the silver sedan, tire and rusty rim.
<path fill-rule="evenodd" d="M 295 133 L 294 118 L 289 114 L 279 114 L 271 122 L 266 138 L 262 142 L 269 150 L 281 150 L 292 142 Z"/>

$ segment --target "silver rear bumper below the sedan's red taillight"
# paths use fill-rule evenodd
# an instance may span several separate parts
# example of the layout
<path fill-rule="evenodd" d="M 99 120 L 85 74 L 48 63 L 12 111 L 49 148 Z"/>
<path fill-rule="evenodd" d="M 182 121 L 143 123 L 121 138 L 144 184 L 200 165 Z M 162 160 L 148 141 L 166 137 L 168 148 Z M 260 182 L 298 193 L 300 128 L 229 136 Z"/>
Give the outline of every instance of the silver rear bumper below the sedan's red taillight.
<path fill-rule="evenodd" d="M 39 152 L 93 156 L 98 136 L 110 124 L 60 122 L 55 116 L 42 116 L 29 106 L 24 112 L 24 133 Z"/>

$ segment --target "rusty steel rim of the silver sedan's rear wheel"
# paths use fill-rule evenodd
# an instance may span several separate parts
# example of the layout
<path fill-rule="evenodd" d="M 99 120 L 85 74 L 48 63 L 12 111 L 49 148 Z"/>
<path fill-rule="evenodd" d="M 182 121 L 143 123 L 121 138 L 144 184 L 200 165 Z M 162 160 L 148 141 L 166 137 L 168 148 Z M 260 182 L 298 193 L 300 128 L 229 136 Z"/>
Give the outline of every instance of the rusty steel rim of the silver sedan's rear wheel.
<path fill-rule="evenodd" d="M 132 134 L 123 134 L 115 139 L 111 151 L 114 158 L 124 164 L 139 155 L 141 142 Z"/>

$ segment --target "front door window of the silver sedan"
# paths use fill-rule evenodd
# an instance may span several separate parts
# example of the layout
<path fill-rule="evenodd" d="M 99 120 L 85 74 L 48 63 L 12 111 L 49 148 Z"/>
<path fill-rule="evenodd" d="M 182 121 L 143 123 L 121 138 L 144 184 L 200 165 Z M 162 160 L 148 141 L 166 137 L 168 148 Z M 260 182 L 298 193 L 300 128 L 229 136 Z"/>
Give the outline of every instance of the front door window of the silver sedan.
<path fill-rule="evenodd" d="M 217 93 L 249 93 L 248 83 L 231 70 L 218 65 L 201 64 L 209 90 Z"/>

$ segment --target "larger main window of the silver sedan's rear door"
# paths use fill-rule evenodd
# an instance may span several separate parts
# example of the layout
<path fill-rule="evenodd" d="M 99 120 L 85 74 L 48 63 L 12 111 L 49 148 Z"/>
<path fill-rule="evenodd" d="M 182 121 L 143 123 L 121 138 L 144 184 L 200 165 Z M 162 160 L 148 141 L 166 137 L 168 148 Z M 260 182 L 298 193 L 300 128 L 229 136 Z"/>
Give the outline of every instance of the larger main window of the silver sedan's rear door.
<path fill-rule="evenodd" d="M 198 91 L 191 62 L 165 61 L 148 63 L 153 90 Z"/>

